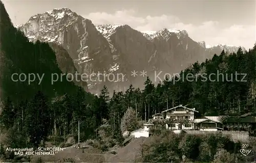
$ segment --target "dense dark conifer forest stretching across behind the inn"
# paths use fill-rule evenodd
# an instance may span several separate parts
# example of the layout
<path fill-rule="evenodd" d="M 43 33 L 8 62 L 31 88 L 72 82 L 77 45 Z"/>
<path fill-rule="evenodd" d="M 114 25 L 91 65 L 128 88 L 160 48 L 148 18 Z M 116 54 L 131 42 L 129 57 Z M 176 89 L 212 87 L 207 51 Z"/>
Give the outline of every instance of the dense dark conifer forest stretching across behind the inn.
<path fill-rule="evenodd" d="M 207 74 L 220 71 L 247 73 L 247 82 L 194 82 L 186 80 L 176 82 L 165 79 L 154 85 L 150 78 L 145 80 L 143 90 L 132 85 L 126 92 L 114 92 L 110 97 L 104 87 L 96 96 L 78 89 L 73 95 L 65 94 L 49 98 L 37 92 L 32 99 L 14 104 L 11 98 L 3 103 L 1 124 L 5 129 L 13 128 L 18 141 L 25 146 L 28 143 L 38 146 L 49 135 L 77 135 L 77 123 L 80 122 L 81 139 L 96 138 L 95 130 L 103 119 L 112 126 L 113 132 L 121 129 L 121 119 L 127 108 L 132 108 L 139 120 L 147 121 L 153 114 L 186 104 L 195 107 L 205 116 L 218 116 L 231 113 L 255 112 L 255 47 L 248 52 L 241 49 L 227 55 L 224 51 L 204 63 L 195 63 L 182 73 Z M 22 97 L 20 97 L 22 98 Z M 30 142 L 27 139 L 30 138 Z M 18 145 L 17 143 L 14 143 Z"/>

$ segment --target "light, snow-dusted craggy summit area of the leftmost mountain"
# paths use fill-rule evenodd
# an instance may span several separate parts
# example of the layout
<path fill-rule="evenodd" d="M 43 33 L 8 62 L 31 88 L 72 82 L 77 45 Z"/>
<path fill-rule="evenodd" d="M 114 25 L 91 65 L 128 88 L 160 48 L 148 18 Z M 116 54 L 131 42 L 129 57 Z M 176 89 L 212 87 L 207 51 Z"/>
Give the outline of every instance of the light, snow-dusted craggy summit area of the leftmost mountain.
<path fill-rule="evenodd" d="M 78 24 L 91 26 L 92 21 L 68 8 L 57 8 L 31 16 L 29 21 L 19 25 L 18 29 L 22 30 L 31 41 L 40 40 L 61 44 L 64 41 L 65 31 L 75 27 L 78 33 Z"/>

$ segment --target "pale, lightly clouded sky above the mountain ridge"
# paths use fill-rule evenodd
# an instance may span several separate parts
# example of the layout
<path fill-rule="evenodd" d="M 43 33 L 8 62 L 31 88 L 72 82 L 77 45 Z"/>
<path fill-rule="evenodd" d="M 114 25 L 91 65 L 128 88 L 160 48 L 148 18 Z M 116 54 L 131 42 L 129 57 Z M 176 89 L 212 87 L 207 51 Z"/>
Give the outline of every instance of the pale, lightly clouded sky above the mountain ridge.
<path fill-rule="evenodd" d="M 253 47 L 256 41 L 255 1 L 22 1 L 2 0 L 15 25 L 54 8 L 69 8 L 97 24 L 128 24 L 138 31 L 186 30 L 206 45 Z"/>

